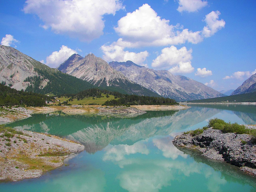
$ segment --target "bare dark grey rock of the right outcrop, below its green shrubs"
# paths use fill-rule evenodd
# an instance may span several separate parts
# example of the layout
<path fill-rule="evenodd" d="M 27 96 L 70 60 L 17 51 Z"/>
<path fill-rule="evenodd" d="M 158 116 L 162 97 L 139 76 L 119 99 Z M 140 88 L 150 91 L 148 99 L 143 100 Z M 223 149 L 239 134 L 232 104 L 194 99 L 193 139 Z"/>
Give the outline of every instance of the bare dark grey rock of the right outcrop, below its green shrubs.
<path fill-rule="evenodd" d="M 256 129 L 255 126 L 248 126 Z M 208 128 L 202 134 L 191 136 L 190 133 L 178 135 L 173 144 L 202 152 L 202 156 L 225 161 L 240 167 L 247 174 L 256 176 L 256 144 L 249 134 L 222 133 Z"/>

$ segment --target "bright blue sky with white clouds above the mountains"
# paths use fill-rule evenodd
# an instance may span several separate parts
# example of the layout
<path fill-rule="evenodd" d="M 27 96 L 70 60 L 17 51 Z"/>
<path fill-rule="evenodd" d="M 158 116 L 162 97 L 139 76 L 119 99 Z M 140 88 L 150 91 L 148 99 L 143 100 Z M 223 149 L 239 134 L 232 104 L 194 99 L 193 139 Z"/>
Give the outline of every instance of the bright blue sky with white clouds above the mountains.
<path fill-rule="evenodd" d="M 93 53 L 229 90 L 256 73 L 255 11 L 255 0 L 1 0 L 0 40 L 52 68 Z"/>

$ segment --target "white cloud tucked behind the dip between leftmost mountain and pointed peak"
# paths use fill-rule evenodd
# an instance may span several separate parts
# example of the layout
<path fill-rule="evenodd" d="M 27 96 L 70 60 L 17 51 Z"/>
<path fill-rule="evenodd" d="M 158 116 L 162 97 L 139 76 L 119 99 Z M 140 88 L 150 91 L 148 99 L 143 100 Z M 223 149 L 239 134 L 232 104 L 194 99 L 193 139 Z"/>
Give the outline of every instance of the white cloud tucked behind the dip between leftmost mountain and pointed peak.
<path fill-rule="evenodd" d="M 46 65 L 52 68 L 56 68 L 74 53 L 77 54 L 75 50 L 62 45 L 59 51 L 52 52 L 52 54 L 46 58 Z"/>

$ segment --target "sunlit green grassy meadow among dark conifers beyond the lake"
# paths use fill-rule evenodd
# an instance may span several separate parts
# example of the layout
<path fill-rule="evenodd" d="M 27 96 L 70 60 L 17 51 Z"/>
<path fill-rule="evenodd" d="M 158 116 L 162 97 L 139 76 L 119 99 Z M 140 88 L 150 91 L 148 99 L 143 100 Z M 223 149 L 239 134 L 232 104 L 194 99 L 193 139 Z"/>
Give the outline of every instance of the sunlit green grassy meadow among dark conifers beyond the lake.
<path fill-rule="evenodd" d="M 107 100 L 114 99 L 114 95 L 109 95 L 109 98 L 106 98 L 106 94 L 101 94 L 101 95 L 104 96 L 104 97 L 95 98 L 95 99 L 92 99 L 92 97 L 89 97 L 89 98 L 84 98 L 84 99 L 79 100 L 79 101 L 77 99 L 74 99 L 73 101 L 69 101 L 68 103 L 70 103 L 70 104 L 80 104 L 81 103 L 83 105 L 88 105 L 90 103 L 96 103 L 96 104 L 101 105 L 101 104 L 105 103 Z M 65 98 L 65 97 L 56 98 L 56 100 L 57 99 L 59 99 L 60 102 L 69 100 L 69 98 Z"/>

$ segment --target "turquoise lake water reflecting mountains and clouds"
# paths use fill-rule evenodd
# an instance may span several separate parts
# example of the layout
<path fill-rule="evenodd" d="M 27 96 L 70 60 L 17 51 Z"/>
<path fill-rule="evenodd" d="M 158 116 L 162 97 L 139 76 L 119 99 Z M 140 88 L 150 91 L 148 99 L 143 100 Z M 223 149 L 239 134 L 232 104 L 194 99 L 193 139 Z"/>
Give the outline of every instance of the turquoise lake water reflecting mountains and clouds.
<path fill-rule="evenodd" d="M 0 191 L 256 191 L 238 167 L 172 144 L 211 118 L 256 124 L 255 105 L 197 105 L 134 118 L 34 114 L 9 126 L 78 141 L 86 150 L 40 178 L 0 183 Z"/>

